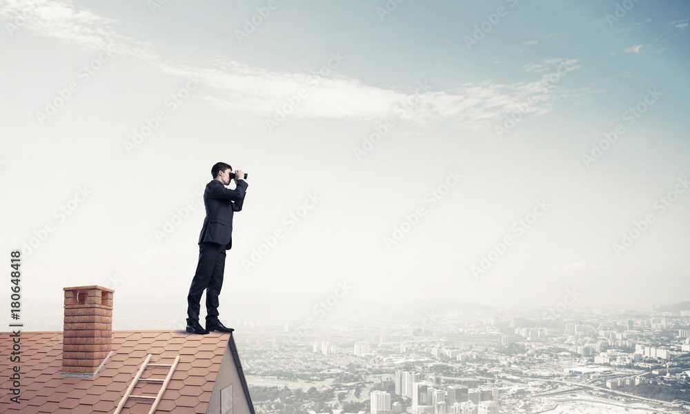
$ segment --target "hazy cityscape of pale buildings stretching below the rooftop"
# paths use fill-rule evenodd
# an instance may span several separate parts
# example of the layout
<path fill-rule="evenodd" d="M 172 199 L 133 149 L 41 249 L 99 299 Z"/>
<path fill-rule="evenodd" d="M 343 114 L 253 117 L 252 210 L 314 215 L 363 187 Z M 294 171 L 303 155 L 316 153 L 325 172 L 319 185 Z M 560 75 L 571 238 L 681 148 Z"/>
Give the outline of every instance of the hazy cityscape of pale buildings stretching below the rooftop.
<path fill-rule="evenodd" d="M 690 413 L 690 302 L 415 303 L 428 309 L 329 314 L 307 331 L 237 319 L 257 413 Z"/>

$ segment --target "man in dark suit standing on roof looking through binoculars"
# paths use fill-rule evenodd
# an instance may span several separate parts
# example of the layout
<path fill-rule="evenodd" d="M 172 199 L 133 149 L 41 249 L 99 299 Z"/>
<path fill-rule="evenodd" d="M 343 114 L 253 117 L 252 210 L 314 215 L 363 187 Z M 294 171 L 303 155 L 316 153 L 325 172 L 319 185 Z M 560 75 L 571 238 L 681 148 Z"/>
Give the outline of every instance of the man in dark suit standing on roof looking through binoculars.
<path fill-rule="evenodd" d="M 242 210 L 248 184 L 242 170 L 235 171 L 235 190 L 230 184 L 233 168 L 219 162 L 211 168 L 213 179 L 204 190 L 206 218 L 199 234 L 199 263 L 187 295 L 189 333 L 205 335 L 210 331 L 232 332 L 218 320 L 218 295 L 223 287 L 226 250 L 233 246 L 233 213 Z M 199 302 L 206 290 L 206 328 L 199 324 Z"/>

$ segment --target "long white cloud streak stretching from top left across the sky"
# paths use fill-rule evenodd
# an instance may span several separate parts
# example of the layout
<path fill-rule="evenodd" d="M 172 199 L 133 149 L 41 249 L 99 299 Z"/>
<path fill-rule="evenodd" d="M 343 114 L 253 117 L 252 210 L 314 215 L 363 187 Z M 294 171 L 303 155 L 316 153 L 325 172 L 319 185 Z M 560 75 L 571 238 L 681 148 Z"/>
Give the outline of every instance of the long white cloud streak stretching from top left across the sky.
<path fill-rule="evenodd" d="M 380 121 L 397 117 L 420 126 L 445 122 L 458 129 L 493 135 L 493 126 L 514 112 L 517 103 L 529 101 L 531 104 L 525 113 L 542 115 L 551 110 L 551 101 L 568 95 L 553 88 L 543 88 L 544 77 L 551 74 L 510 84 L 464 83 L 448 91 L 422 91 L 416 86 L 408 90 L 387 90 L 330 71 L 328 74 L 278 72 L 230 59 L 195 62 L 194 65 L 171 63 L 152 44 L 119 34 L 118 21 L 88 10 L 76 10 L 72 1 L 3 1 L 0 16 L 14 19 L 28 7 L 33 13 L 27 17 L 22 30 L 26 28 L 85 51 L 108 48 L 115 57 L 145 61 L 167 75 L 194 77 L 206 86 L 206 95 L 199 94 L 199 99 L 213 103 L 220 110 L 260 122 L 272 118 L 276 108 L 304 90 L 306 98 L 293 108 L 292 118 Z M 337 55 L 337 50 L 333 54 Z M 333 54 L 324 55 L 324 65 Z M 541 73 L 564 65 L 562 73 L 565 73 L 580 68 L 576 62 L 575 59 L 547 59 L 523 69 Z M 400 108 L 404 108 L 404 112 Z"/>

